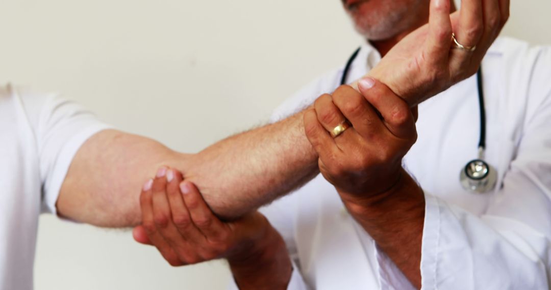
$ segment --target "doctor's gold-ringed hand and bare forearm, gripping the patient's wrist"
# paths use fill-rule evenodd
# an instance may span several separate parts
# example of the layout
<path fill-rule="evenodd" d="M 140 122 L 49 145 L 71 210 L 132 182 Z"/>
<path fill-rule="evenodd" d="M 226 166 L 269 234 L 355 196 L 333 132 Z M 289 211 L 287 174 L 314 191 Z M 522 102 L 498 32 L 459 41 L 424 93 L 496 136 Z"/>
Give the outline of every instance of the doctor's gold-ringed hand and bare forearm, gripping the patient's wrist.
<path fill-rule="evenodd" d="M 417 139 L 417 112 L 378 81 L 360 80 L 359 88 L 363 96 L 341 86 L 318 98 L 304 116 L 306 135 L 350 215 L 420 288 L 425 198 L 402 168 Z M 352 127 L 332 138 L 344 120 Z"/>

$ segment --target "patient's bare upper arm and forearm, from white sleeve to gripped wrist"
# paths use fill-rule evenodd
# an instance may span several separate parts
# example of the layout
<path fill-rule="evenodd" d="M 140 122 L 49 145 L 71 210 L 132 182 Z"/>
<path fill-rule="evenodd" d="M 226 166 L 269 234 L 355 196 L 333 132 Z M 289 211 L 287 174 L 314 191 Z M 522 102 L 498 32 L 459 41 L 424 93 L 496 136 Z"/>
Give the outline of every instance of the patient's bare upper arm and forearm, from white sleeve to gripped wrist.
<path fill-rule="evenodd" d="M 58 213 L 96 226 L 138 225 L 141 187 L 162 165 L 182 171 L 215 213 L 227 219 L 289 192 L 318 172 L 301 113 L 229 137 L 198 154 L 105 130 L 75 155 L 57 201 Z"/>

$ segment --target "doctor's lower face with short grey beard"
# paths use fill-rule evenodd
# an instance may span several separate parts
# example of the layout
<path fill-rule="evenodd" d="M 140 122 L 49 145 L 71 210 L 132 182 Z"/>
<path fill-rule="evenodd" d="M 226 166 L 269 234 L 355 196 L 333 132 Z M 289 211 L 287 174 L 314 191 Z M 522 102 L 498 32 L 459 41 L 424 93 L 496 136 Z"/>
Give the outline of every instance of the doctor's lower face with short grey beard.
<path fill-rule="evenodd" d="M 345 2 L 346 0 L 343 0 Z M 378 3 L 369 3 L 369 2 Z M 417 24 L 424 0 L 360 0 L 345 9 L 358 33 L 368 40 L 387 40 Z M 377 5 L 376 8 L 369 6 Z"/>

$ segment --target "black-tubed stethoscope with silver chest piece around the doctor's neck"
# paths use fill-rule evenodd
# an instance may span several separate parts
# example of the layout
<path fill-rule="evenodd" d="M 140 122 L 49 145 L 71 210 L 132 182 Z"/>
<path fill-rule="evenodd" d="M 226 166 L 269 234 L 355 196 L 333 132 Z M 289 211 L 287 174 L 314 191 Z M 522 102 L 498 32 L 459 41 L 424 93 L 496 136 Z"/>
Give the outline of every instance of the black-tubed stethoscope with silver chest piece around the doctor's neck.
<path fill-rule="evenodd" d="M 341 79 L 341 85 L 345 85 L 352 68 L 352 63 L 358 57 L 360 48 L 350 56 Z M 459 181 L 467 191 L 485 193 L 491 191 L 498 181 L 498 172 L 493 166 L 484 161 L 486 150 L 486 110 L 484 108 L 484 90 L 482 87 L 482 67 L 477 72 L 478 104 L 480 109 L 480 139 L 478 141 L 478 159 L 471 160 L 462 168 Z"/>

